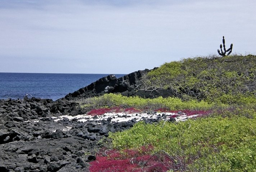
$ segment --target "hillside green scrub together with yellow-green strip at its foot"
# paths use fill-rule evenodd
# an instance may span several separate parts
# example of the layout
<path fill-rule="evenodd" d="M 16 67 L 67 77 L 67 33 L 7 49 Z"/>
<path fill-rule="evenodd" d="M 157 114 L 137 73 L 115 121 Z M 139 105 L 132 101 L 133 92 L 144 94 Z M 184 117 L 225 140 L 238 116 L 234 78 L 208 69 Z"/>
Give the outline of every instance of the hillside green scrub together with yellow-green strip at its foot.
<path fill-rule="evenodd" d="M 256 56 L 198 57 L 170 62 L 142 78 L 146 90 L 171 89 L 175 97 L 144 99 L 105 94 L 84 99 L 83 108 L 133 107 L 169 110 L 225 107 L 256 102 Z"/>

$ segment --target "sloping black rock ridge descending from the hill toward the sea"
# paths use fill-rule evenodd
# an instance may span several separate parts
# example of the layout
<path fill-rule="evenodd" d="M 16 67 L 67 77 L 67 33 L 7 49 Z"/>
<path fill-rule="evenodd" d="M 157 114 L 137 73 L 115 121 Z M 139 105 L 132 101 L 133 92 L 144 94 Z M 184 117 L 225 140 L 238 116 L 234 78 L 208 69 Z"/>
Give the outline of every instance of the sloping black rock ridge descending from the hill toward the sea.
<path fill-rule="evenodd" d="M 124 96 L 138 95 L 143 98 L 173 96 L 174 94 L 171 89 L 154 90 L 151 92 L 141 88 L 143 75 L 146 75 L 150 71 L 149 69 L 138 70 L 137 72 L 130 73 L 120 78 L 116 78 L 115 75 L 108 75 L 84 88 L 69 93 L 65 96 L 65 99 L 77 100 L 79 98 L 100 96 L 105 93 L 120 93 Z"/>

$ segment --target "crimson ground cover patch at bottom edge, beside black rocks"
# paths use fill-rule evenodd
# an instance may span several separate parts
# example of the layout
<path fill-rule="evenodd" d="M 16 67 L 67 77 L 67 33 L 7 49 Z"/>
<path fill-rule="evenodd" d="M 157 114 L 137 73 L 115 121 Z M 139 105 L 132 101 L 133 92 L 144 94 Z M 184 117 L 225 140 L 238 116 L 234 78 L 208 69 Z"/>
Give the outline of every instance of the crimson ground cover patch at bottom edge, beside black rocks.
<path fill-rule="evenodd" d="M 172 160 L 165 154 L 152 156 L 153 147 L 140 150 L 126 149 L 107 151 L 107 156 L 97 155 L 90 163 L 90 172 L 166 172 L 172 167 Z"/>

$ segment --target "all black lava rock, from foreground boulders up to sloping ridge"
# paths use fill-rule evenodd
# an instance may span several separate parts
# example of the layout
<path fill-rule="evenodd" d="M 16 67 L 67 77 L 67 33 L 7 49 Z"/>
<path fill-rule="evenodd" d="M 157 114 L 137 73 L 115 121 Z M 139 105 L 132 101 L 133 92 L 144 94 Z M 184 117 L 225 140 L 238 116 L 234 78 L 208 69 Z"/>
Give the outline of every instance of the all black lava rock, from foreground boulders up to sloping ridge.
<path fill-rule="evenodd" d="M 126 120 L 120 121 L 113 120 L 115 117 L 77 118 L 86 114 L 76 103 L 81 98 L 105 93 L 168 97 L 169 90 L 149 93 L 140 89 L 141 78 L 149 71 L 139 70 L 121 78 L 109 75 L 56 101 L 35 97 L 0 100 L 0 171 L 86 172 L 96 150 L 102 147 L 99 141 L 109 132 L 129 129 L 140 120 L 152 123 L 166 119 L 166 114 L 156 113 L 140 119 L 122 114 L 120 118 Z"/>

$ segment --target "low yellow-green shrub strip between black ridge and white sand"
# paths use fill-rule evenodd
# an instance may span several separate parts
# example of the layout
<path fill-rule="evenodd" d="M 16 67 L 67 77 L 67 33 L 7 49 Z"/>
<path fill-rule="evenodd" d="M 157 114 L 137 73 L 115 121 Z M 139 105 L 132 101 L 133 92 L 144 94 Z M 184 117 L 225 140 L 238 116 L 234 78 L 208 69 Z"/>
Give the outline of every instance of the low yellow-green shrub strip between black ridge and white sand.
<path fill-rule="evenodd" d="M 163 98 L 145 99 L 141 97 L 125 97 L 121 94 L 104 94 L 100 97 L 92 97 L 79 101 L 82 108 L 97 109 L 97 108 L 112 108 L 112 107 L 133 107 L 138 109 L 159 109 L 166 108 L 169 110 L 181 109 L 200 109 L 207 110 L 215 106 L 214 103 L 207 103 L 204 100 L 189 100 L 183 101 L 179 98 Z M 225 105 L 221 105 L 225 106 Z"/>

